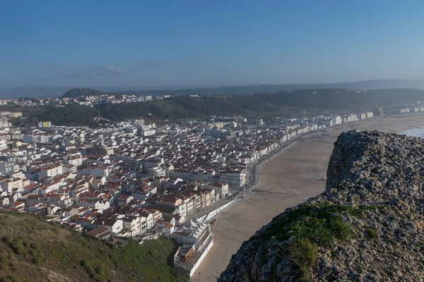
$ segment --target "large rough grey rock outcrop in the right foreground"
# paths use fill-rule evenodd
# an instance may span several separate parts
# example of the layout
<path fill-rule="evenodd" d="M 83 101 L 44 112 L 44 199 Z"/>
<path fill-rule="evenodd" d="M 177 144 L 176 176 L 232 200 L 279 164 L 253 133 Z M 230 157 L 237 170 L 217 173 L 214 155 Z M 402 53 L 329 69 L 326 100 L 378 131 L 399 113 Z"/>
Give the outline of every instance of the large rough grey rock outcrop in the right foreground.
<path fill-rule="evenodd" d="M 342 133 L 326 191 L 257 231 L 218 281 L 424 281 L 423 141 Z"/>

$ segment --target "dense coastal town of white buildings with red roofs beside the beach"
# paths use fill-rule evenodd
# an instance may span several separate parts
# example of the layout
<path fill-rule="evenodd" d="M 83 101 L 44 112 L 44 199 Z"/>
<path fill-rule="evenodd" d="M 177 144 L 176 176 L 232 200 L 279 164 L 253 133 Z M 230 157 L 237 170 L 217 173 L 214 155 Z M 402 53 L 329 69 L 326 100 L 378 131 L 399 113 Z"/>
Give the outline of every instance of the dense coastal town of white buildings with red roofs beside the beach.
<path fill-rule="evenodd" d="M 424 112 L 418 106 L 399 114 Z M 211 224 L 257 183 L 256 168 L 308 133 L 383 116 L 382 108 L 276 119 L 211 116 L 156 125 L 142 118 L 108 127 L 40 121 L 16 128 L 0 113 L 0 203 L 70 231 L 125 244 L 165 236 L 174 264 L 192 276 L 213 247 Z"/>

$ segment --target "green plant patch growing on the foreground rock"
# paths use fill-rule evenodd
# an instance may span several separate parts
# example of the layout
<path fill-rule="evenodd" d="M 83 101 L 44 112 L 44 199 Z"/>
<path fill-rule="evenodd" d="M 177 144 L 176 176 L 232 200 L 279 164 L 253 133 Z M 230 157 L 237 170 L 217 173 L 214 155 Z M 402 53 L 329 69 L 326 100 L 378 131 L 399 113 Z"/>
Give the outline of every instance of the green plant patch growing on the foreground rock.
<path fill-rule="evenodd" d="M 287 252 L 285 256 L 298 266 L 300 278 L 307 281 L 320 248 L 330 247 L 337 240 L 345 241 L 355 235 L 351 224 L 343 221 L 343 216 L 363 217 L 367 212 L 384 212 L 384 209 L 386 207 L 380 205 L 305 205 L 274 218 L 273 226 L 261 233 L 257 240 L 265 243 L 273 237 L 280 242 L 294 235 L 288 249 L 281 252 Z"/>

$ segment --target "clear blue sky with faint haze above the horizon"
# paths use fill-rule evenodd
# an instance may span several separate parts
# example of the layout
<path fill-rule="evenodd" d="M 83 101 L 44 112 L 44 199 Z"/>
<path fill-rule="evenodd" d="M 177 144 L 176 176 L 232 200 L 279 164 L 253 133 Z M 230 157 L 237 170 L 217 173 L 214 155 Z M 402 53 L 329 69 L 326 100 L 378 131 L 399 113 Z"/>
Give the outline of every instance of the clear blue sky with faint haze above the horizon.
<path fill-rule="evenodd" d="M 119 2 L 2 1 L 0 87 L 424 78 L 424 1 Z"/>

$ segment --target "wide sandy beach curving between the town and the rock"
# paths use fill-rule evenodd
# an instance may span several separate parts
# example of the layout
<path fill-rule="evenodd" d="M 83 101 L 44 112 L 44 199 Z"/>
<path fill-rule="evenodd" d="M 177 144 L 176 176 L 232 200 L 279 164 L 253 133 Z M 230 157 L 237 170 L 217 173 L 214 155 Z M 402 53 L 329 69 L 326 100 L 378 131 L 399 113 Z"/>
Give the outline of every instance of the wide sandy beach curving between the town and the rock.
<path fill-rule="evenodd" d="M 286 208 L 325 190 L 326 168 L 336 137 L 351 129 L 401 133 L 424 125 L 424 116 L 376 118 L 329 130 L 326 139 L 309 135 L 261 168 L 261 183 L 225 210 L 212 226 L 214 245 L 191 281 L 216 281 L 243 241 Z M 320 133 L 318 133 L 320 134 Z"/>

